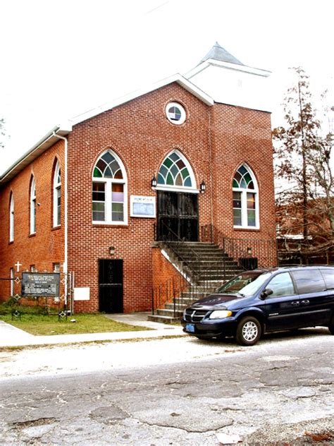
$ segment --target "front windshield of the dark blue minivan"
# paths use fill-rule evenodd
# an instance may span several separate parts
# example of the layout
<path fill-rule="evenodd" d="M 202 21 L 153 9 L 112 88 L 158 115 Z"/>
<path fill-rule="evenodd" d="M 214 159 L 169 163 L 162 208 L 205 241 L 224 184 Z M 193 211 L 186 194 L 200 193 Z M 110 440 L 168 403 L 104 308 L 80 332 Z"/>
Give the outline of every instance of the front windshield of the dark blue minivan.
<path fill-rule="evenodd" d="M 218 289 L 221 294 L 240 294 L 240 296 L 252 296 L 259 291 L 266 280 L 271 277 L 271 272 L 247 271 L 234 277 Z"/>

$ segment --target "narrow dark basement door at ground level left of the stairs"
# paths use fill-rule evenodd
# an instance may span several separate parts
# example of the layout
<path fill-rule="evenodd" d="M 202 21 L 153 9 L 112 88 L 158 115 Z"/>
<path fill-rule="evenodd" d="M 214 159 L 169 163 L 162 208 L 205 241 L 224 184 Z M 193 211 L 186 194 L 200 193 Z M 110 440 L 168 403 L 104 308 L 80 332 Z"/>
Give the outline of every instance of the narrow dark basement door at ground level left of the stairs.
<path fill-rule="evenodd" d="M 99 311 L 123 313 L 123 260 L 99 259 Z"/>

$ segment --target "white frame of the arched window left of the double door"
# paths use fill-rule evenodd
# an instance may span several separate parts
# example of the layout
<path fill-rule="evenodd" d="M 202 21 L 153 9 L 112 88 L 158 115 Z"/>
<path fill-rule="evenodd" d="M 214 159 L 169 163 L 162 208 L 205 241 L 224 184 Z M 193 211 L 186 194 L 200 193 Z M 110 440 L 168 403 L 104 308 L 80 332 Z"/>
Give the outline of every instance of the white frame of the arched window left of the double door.
<path fill-rule="evenodd" d="M 98 178 L 94 176 L 94 168 L 99 162 L 99 159 L 106 153 L 110 152 L 113 157 L 115 157 L 116 161 L 118 162 L 118 165 L 120 167 L 120 170 L 122 171 L 123 179 L 111 179 L 111 178 Z M 105 150 L 99 158 L 97 159 L 97 162 L 94 164 L 93 168 L 93 174 L 92 174 L 92 183 L 104 183 L 104 221 L 101 222 L 100 220 L 93 220 L 93 224 L 112 224 L 113 226 L 126 226 L 128 225 L 128 177 L 126 175 L 125 167 L 123 162 L 121 161 L 120 157 L 116 155 L 113 150 Z M 112 185 L 113 183 L 117 184 L 123 184 L 123 194 L 124 194 L 124 201 L 123 201 L 123 221 L 113 221 L 112 220 Z M 91 188 L 92 193 L 92 188 Z M 92 195 L 91 195 L 92 196 Z M 92 200 L 92 198 L 91 198 Z M 93 216 L 93 212 L 92 212 Z"/>

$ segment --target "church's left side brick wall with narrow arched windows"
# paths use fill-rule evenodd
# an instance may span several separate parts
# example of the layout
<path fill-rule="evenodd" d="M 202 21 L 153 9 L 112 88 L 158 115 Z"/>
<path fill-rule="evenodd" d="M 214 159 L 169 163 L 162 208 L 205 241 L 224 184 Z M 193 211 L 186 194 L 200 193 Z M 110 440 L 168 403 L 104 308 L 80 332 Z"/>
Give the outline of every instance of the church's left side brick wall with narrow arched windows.
<path fill-rule="evenodd" d="M 13 180 L 0 190 L 0 277 L 9 277 L 9 270 L 18 261 L 20 272 L 35 265 L 36 270 L 52 271 L 53 263 L 64 260 L 64 200 L 62 190 L 61 227 L 53 228 L 53 175 L 55 160 L 61 164 L 63 181 L 63 142 L 56 143 L 25 167 Z M 36 234 L 30 235 L 30 181 L 36 183 Z M 63 186 L 62 186 L 63 187 Z M 9 242 L 9 201 L 14 197 L 14 241 Z M 16 267 L 15 267 L 16 271 Z M 16 292 L 20 287 L 16 285 Z M 10 282 L 0 281 L 0 299 L 10 295 Z"/>

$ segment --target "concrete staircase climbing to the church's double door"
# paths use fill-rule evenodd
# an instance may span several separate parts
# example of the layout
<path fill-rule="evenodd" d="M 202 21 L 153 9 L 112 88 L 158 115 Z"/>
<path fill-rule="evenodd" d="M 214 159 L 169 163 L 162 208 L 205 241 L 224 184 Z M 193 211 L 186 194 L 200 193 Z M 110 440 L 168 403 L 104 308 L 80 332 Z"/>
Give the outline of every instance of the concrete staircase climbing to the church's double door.
<path fill-rule="evenodd" d="M 241 272 L 237 262 L 228 257 L 218 245 L 204 242 L 159 242 L 171 263 L 188 278 L 190 285 L 174 302 L 156 308 L 149 320 L 161 323 L 179 323 L 183 309 L 194 301 L 216 291 L 223 282 Z"/>

